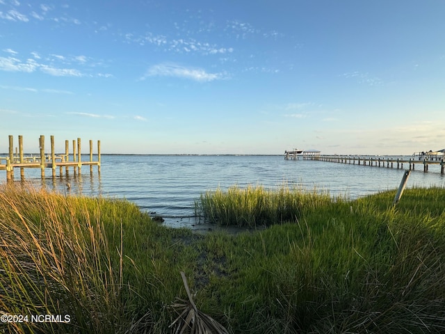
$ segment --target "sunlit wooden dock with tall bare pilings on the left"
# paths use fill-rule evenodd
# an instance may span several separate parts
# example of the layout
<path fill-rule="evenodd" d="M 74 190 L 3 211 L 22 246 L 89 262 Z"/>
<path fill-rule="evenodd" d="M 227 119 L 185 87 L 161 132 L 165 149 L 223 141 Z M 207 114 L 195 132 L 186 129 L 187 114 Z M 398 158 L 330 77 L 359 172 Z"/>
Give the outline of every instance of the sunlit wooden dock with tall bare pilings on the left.
<path fill-rule="evenodd" d="M 20 168 L 21 180 L 24 180 L 25 168 L 40 168 L 40 175 L 44 178 L 45 169 L 51 168 L 52 177 L 56 177 L 56 170 L 59 170 L 59 175 L 68 175 L 69 168 L 73 168 L 73 173 L 81 174 L 82 166 L 90 166 L 90 173 L 92 173 L 93 166 L 97 166 L 97 173 L 100 173 L 100 141 L 97 141 L 97 161 L 93 161 L 92 141 L 90 140 L 90 159 L 89 161 L 81 160 L 81 138 L 72 141 L 72 154 L 70 154 L 70 142 L 65 141 L 65 153 L 56 154 L 54 150 L 54 136 L 51 136 L 51 153 L 44 152 L 44 136 L 39 138 L 39 150 L 37 155 L 25 154 L 23 152 L 23 136 L 19 136 L 19 149 L 15 149 L 14 154 L 14 138 L 9 136 L 9 152 L 8 156 L 0 157 L 0 170 L 6 170 L 6 180 L 14 179 L 14 169 Z M 71 155 L 71 160 L 70 160 Z"/>

